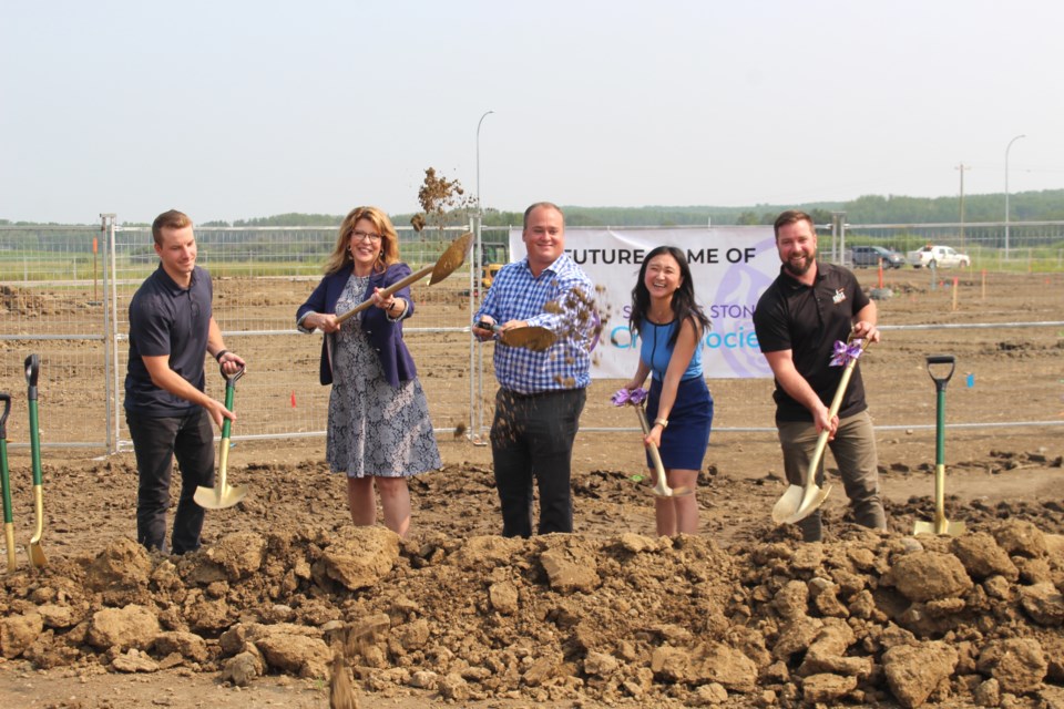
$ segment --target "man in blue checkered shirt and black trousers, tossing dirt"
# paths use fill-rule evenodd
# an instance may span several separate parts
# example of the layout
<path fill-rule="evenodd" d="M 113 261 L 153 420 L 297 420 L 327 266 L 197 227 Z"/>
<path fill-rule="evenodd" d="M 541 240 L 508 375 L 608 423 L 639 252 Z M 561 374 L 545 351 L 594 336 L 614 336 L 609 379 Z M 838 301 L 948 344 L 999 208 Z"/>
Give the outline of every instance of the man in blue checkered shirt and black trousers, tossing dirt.
<path fill-rule="evenodd" d="M 549 202 L 524 213 L 528 256 L 499 271 L 475 321 L 501 330 L 543 327 L 555 336 L 543 352 L 495 342 L 495 418 L 491 453 L 503 536 L 532 536 L 532 481 L 540 492 L 539 534 L 573 531 L 573 440 L 591 383 L 597 325 L 594 286 L 565 254 L 565 217 Z M 481 340 L 491 329 L 473 326 Z"/>

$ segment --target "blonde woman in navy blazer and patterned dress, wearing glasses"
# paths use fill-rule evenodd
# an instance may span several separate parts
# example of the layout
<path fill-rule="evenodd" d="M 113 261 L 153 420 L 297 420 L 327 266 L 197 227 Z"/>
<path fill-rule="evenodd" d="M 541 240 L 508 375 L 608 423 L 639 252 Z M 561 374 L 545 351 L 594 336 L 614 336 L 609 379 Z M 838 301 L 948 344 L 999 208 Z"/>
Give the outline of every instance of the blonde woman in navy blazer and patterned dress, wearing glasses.
<path fill-rule="evenodd" d="M 332 384 L 326 458 L 334 472 L 347 474 L 351 520 L 377 521 L 376 485 L 385 525 L 403 537 L 407 477 L 442 466 L 424 390 L 402 341 L 402 321 L 413 315 L 410 288 L 381 292 L 409 275 L 388 215 L 356 207 L 340 225 L 325 278 L 296 311 L 301 332 L 325 332 L 320 379 Z M 366 300 L 374 307 L 337 322 Z"/>

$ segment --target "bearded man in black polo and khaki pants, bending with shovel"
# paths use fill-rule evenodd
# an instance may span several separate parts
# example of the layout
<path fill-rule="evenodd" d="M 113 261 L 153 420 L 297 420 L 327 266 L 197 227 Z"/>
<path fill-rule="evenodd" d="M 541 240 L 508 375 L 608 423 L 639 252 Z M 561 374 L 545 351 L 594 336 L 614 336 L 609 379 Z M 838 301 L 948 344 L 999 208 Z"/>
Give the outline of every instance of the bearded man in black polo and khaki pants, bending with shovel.
<path fill-rule="evenodd" d="M 879 341 L 876 304 L 849 270 L 817 261 L 812 218 L 797 210 L 779 215 L 776 248 L 779 276 L 757 301 L 754 328 L 776 377 L 776 428 L 784 450 L 784 470 L 792 485 L 804 485 L 820 431 L 831 431 L 829 448 L 842 475 L 858 524 L 887 527 L 879 496 L 876 435 L 864 403 L 860 364 L 853 369 L 836 417 L 828 408 L 842 367 L 831 367 L 835 342 L 849 337 Z M 823 461 L 816 473 L 823 484 Z M 820 511 L 798 523 L 807 542 L 821 538 Z"/>

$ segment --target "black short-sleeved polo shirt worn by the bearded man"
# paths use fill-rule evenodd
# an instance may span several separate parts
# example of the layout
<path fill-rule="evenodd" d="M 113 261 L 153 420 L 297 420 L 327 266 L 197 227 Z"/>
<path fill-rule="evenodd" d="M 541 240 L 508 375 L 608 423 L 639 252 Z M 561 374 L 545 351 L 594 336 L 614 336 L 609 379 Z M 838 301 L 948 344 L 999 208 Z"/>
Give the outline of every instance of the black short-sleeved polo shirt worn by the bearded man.
<path fill-rule="evenodd" d="M 853 316 L 869 304 L 868 296 L 849 270 L 817 261 L 814 285 L 806 286 L 780 267 L 779 276 L 757 301 L 754 329 L 763 352 L 791 350 L 795 368 L 806 378 L 825 405 L 842 378 L 842 367 L 831 367 L 837 340 L 846 341 Z M 812 414 L 776 381 L 777 421 L 812 421 Z M 839 418 L 868 408 L 860 366 L 853 369 Z"/>

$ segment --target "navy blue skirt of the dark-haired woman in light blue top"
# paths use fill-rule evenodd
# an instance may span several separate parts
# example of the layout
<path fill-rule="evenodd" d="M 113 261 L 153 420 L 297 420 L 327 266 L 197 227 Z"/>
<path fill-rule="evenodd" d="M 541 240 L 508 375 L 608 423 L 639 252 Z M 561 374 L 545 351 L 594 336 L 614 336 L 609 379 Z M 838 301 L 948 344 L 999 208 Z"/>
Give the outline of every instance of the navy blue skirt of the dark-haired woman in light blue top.
<path fill-rule="evenodd" d="M 662 398 L 662 382 L 651 379 L 651 395 L 646 400 L 646 419 L 653 425 L 657 418 L 657 404 Z M 679 382 L 676 402 L 668 413 L 668 428 L 662 431 L 658 452 L 666 470 L 702 470 L 702 461 L 709 446 L 709 429 L 713 425 L 713 397 L 706 380 L 693 377 Z M 651 455 L 646 466 L 654 467 Z"/>

